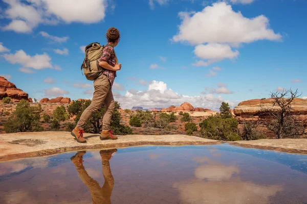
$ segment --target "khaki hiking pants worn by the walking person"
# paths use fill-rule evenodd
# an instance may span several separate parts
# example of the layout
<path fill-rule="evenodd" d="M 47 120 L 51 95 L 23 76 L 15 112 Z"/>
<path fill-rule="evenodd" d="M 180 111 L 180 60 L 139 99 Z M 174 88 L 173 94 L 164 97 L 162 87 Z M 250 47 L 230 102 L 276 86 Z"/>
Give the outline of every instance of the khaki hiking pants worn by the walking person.
<path fill-rule="evenodd" d="M 112 113 L 115 109 L 115 103 L 113 98 L 113 93 L 111 89 L 111 85 L 106 77 L 106 75 L 101 74 L 95 81 L 94 81 L 94 95 L 92 99 L 92 103 L 89 107 L 87 107 L 77 123 L 77 127 L 80 129 L 83 128 L 85 122 L 91 117 L 91 115 L 98 111 L 101 108 L 102 104 L 104 103 L 106 112 L 102 119 L 102 130 L 107 131 L 109 130 Z"/>

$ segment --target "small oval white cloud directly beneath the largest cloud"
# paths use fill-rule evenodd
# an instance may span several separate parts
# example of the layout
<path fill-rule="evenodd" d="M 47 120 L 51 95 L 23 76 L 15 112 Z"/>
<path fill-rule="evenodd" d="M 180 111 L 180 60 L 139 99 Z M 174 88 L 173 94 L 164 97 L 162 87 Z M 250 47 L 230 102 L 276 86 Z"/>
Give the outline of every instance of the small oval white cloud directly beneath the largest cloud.
<path fill-rule="evenodd" d="M 197 57 L 207 60 L 205 64 L 195 64 L 194 66 L 208 66 L 212 63 L 222 61 L 225 58 L 234 59 L 239 55 L 238 50 L 232 50 L 227 44 L 209 43 L 197 45 L 194 49 Z"/>

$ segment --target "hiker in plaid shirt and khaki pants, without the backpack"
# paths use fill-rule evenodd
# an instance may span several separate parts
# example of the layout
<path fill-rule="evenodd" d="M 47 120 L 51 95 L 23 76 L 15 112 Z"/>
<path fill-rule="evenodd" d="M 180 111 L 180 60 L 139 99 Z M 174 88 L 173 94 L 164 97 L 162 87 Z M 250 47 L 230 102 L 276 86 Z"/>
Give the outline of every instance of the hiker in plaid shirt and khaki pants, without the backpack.
<path fill-rule="evenodd" d="M 121 69 L 121 64 L 118 64 L 118 59 L 114 50 L 114 47 L 120 41 L 120 33 L 116 28 L 112 27 L 107 30 L 105 36 L 107 39 L 107 44 L 103 47 L 102 55 L 98 60 L 99 66 L 102 67 L 102 71 L 96 72 L 100 75 L 94 80 L 95 90 L 92 103 L 84 110 L 75 129 L 71 132 L 71 134 L 77 139 L 77 142 L 81 143 L 86 142 L 85 138 L 83 138 L 83 125 L 94 112 L 101 108 L 103 103 L 105 105 L 106 112 L 102 119 L 102 132 L 100 139 L 117 139 L 117 136 L 113 135 L 113 132 L 109 129 L 109 126 L 111 123 L 112 113 L 115 109 L 112 85 L 116 77 L 116 71 Z"/>

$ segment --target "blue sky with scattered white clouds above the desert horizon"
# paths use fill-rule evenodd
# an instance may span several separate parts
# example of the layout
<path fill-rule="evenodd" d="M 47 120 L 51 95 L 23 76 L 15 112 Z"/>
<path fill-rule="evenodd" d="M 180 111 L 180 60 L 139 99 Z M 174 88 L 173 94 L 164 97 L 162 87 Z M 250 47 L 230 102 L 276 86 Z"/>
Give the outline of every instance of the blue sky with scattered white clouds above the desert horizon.
<path fill-rule="evenodd" d="M 123 108 L 217 109 L 298 89 L 307 96 L 307 1 L 1 0 L 0 75 L 32 98 L 92 98 L 80 47 L 116 27 Z"/>

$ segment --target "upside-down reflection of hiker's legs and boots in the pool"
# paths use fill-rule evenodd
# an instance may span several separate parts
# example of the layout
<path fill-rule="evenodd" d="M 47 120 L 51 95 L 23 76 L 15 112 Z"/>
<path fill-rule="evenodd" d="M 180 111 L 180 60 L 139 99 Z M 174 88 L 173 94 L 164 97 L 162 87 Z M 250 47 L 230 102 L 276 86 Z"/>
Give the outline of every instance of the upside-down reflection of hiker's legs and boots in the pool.
<path fill-rule="evenodd" d="M 102 160 L 102 173 L 104 177 L 104 184 L 102 187 L 97 181 L 92 179 L 91 176 L 86 172 L 83 166 L 82 156 L 86 151 L 78 151 L 75 156 L 71 158 L 71 161 L 75 164 L 76 169 L 79 173 L 81 181 L 90 189 L 93 203 L 111 203 L 111 194 L 114 187 L 114 178 L 111 173 L 111 168 L 109 160 L 112 158 L 112 154 L 116 152 L 117 149 L 107 149 L 101 150 L 100 156 Z"/>

